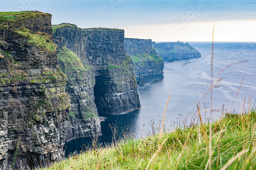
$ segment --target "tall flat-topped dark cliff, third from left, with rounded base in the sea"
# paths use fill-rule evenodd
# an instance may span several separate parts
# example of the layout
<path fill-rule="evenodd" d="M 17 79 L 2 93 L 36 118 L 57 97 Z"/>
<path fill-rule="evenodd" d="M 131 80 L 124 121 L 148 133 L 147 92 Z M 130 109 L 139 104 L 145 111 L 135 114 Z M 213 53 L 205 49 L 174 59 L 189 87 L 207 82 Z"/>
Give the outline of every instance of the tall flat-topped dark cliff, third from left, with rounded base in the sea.
<path fill-rule="evenodd" d="M 95 73 L 95 104 L 100 113 L 122 113 L 140 108 L 134 66 L 124 51 L 124 31 L 80 29 L 69 23 L 53 27 L 54 40 L 76 53 Z"/>

